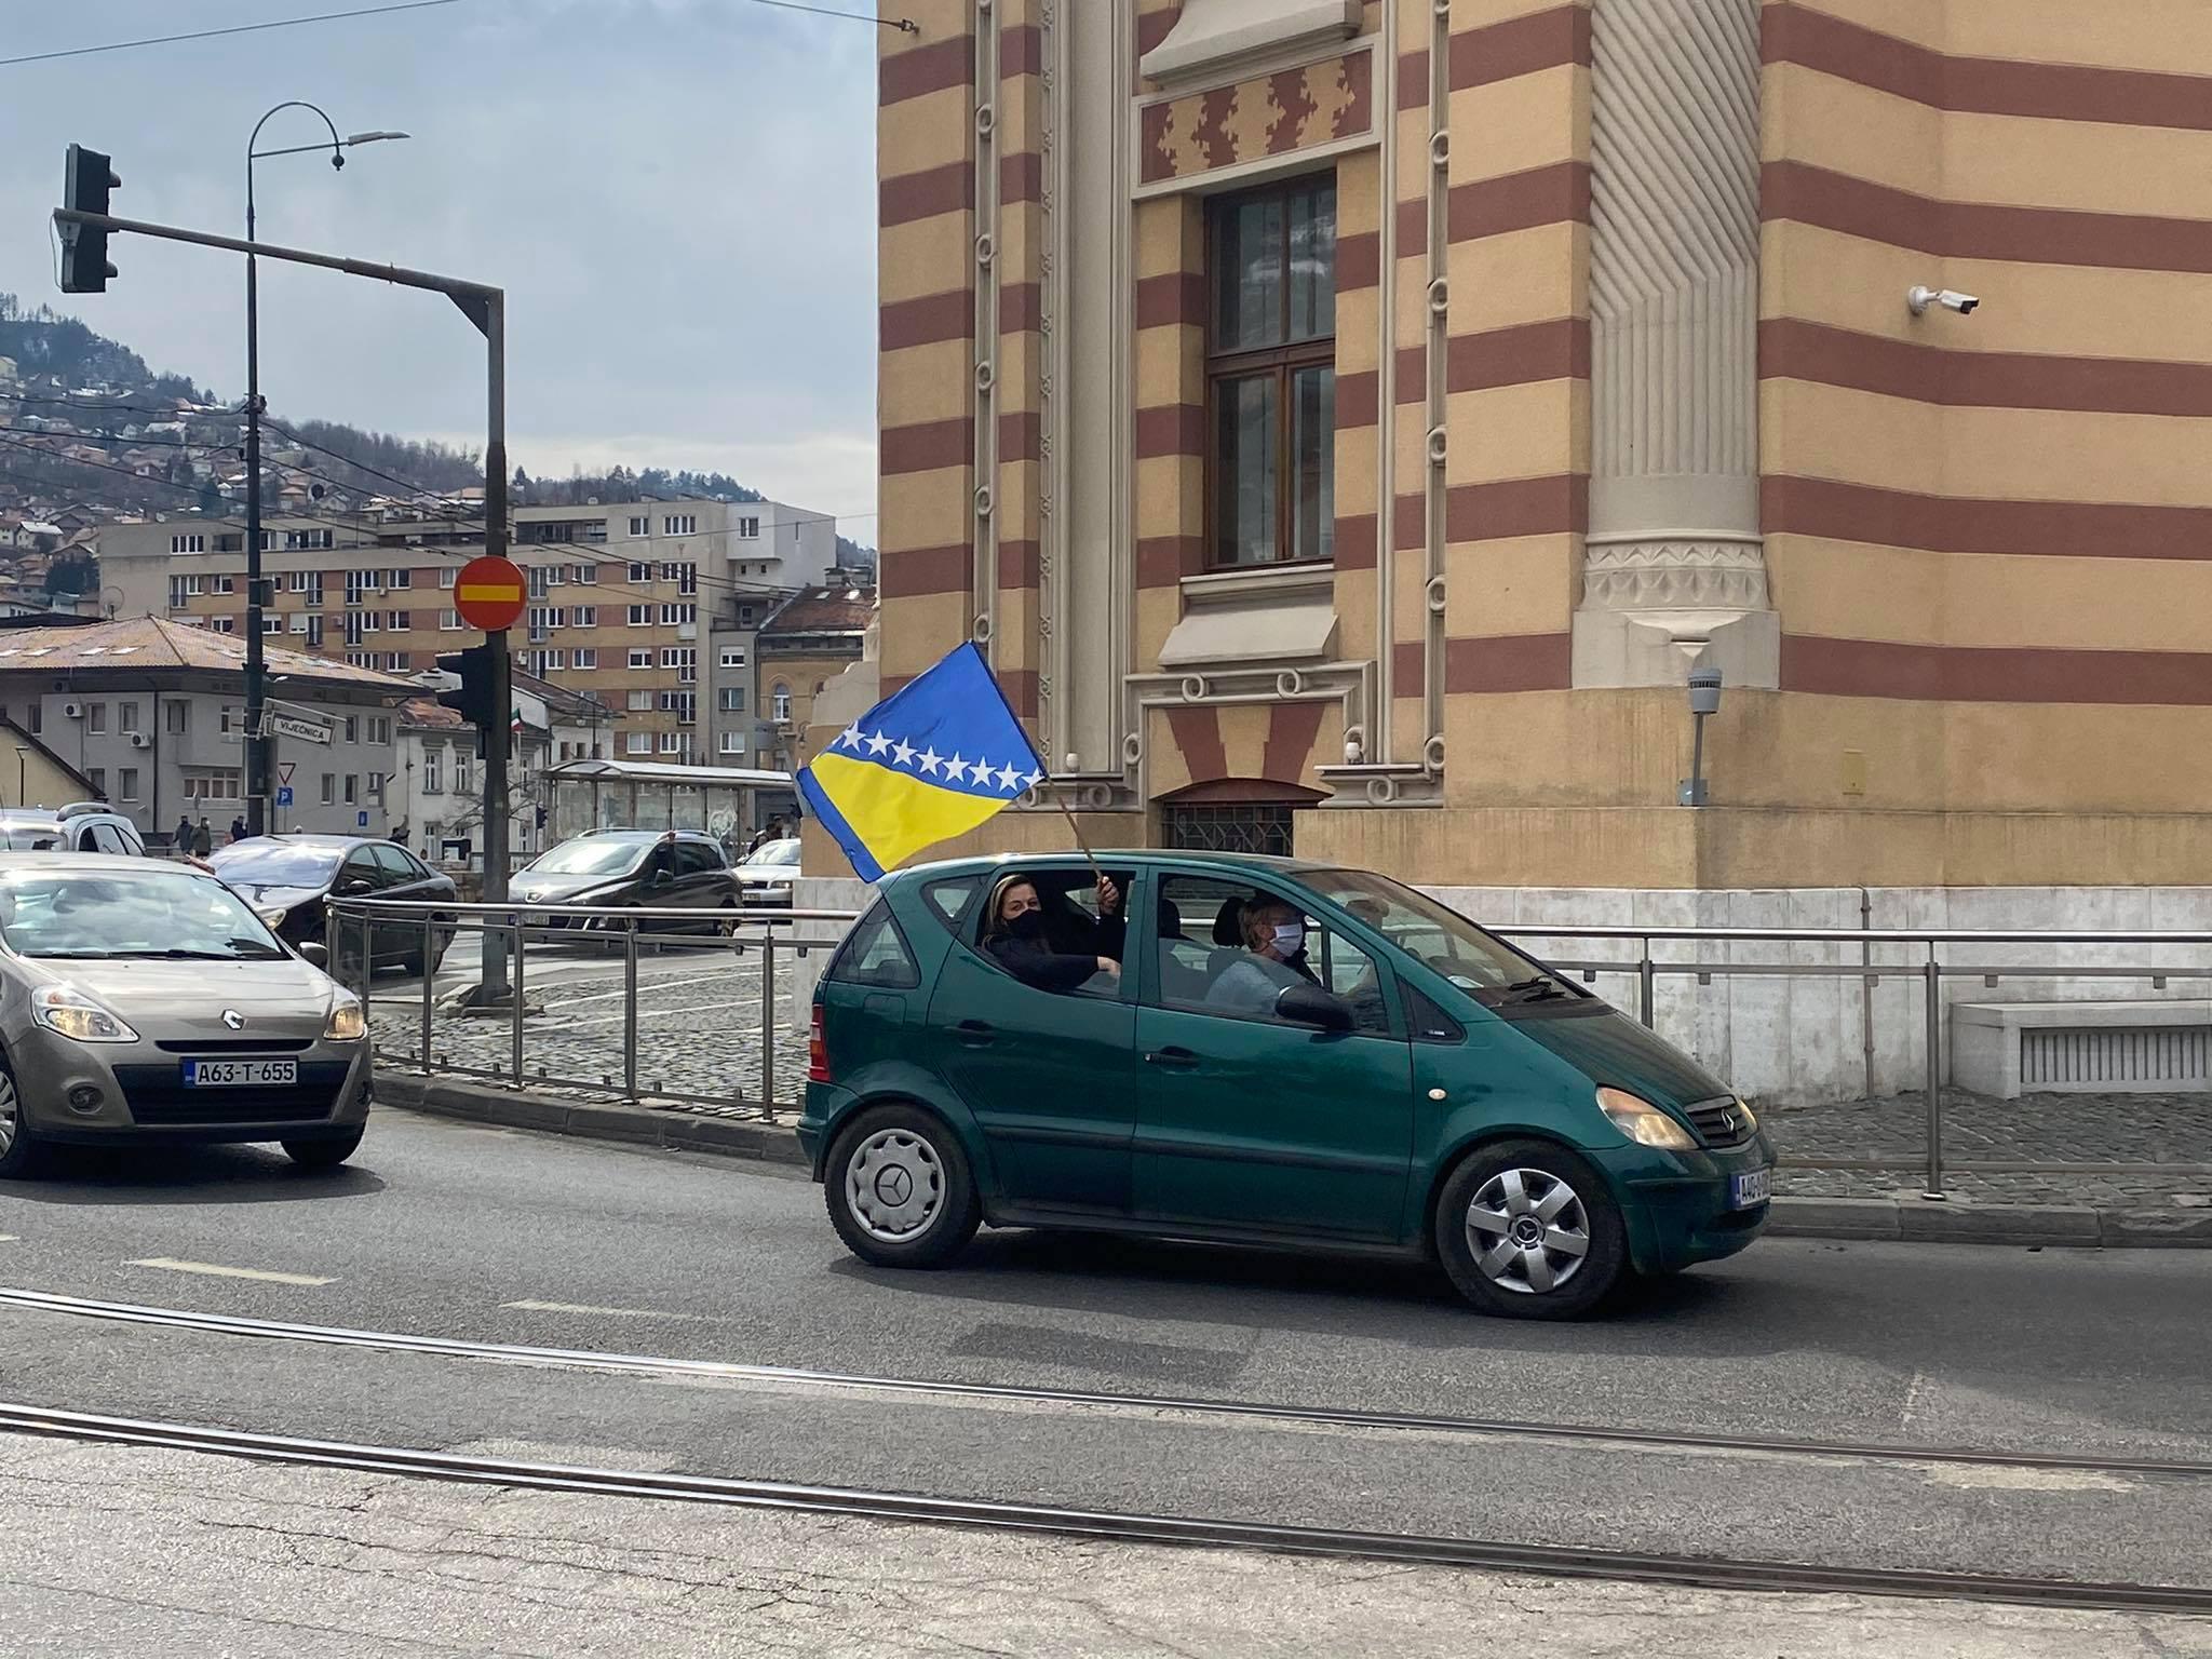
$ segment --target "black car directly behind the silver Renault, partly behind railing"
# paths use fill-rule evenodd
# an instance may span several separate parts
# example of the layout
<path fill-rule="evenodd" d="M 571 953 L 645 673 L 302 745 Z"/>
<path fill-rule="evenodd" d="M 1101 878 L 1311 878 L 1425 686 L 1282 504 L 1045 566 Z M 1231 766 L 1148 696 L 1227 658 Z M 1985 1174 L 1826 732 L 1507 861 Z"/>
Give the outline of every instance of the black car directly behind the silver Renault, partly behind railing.
<path fill-rule="evenodd" d="M 367 836 L 252 836 L 208 854 L 208 867 L 239 889 L 285 945 L 305 945 L 325 933 L 325 902 L 332 898 L 378 898 L 436 905 L 458 898 L 453 878 L 431 869 L 396 841 Z M 453 942 L 449 916 L 434 918 L 429 949 L 420 918 L 369 925 L 369 967 L 405 967 L 436 973 Z M 361 929 L 341 929 L 341 978 L 358 971 Z"/>

